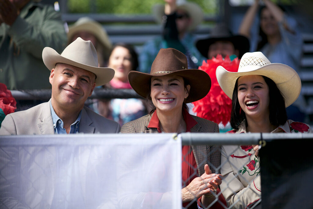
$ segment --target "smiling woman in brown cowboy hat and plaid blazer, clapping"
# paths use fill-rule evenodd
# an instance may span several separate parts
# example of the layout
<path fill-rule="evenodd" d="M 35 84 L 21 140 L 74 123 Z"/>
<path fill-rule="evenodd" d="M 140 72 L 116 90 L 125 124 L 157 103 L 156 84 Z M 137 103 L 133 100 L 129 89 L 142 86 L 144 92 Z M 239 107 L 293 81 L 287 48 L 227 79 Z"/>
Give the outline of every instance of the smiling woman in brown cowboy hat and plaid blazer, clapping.
<path fill-rule="evenodd" d="M 150 114 L 123 125 L 121 133 L 207 133 L 218 132 L 212 121 L 190 115 L 186 103 L 203 98 L 211 87 L 208 74 L 201 70 L 187 69 L 187 58 L 178 50 L 161 49 L 153 61 L 151 72 L 131 71 L 128 80 L 132 88 L 153 103 Z M 218 193 L 219 202 L 225 203 L 218 185 L 222 176 L 218 173 L 220 151 L 218 146 L 182 147 L 182 202 L 184 207 L 208 206 Z M 210 159 L 210 160 L 209 160 Z M 200 165 L 206 162 L 206 165 Z M 199 165 L 199 166 L 198 166 Z M 210 165 L 210 168 L 209 166 Z M 196 177 L 200 176 L 200 177 Z M 161 198 L 161 197 L 160 197 Z M 137 202 L 143 202 L 144 197 Z M 219 203 L 215 207 L 221 207 Z"/>

